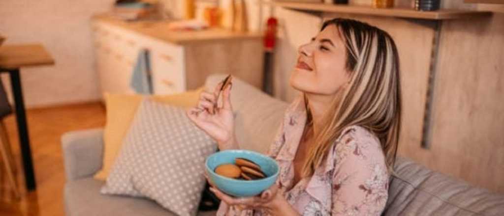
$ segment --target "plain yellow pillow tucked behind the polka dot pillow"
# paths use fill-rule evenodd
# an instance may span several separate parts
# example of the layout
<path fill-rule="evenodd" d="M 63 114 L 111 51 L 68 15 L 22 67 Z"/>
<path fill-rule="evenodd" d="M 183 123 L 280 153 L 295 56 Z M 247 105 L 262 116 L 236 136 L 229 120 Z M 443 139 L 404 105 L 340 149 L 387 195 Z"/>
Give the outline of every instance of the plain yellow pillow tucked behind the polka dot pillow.
<path fill-rule="evenodd" d="M 158 102 L 187 108 L 196 106 L 199 95 L 203 89 L 203 87 L 200 87 L 196 90 L 184 93 L 154 95 L 150 97 Z M 105 93 L 107 123 L 103 131 L 103 166 L 102 169 L 94 175 L 95 179 L 107 179 L 115 161 L 115 157 L 121 148 L 122 139 L 128 132 L 131 121 L 133 121 L 133 117 L 143 97 L 143 95 L 136 94 Z"/>

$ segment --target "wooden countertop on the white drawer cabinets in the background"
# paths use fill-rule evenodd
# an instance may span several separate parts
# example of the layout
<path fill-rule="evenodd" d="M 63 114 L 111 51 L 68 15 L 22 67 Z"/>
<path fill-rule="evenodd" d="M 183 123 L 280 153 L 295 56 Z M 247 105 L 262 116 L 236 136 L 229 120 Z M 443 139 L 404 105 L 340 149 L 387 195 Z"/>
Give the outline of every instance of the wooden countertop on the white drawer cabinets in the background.
<path fill-rule="evenodd" d="M 95 15 L 92 19 L 174 44 L 187 44 L 216 40 L 259 40 L 263 37 L 263 35 L 258 32 L 241 33 L 218 28 L 210 28 L 201 31 L 170 31 L 168 30 L 168 21 L 127 22 L 113 18 L 110 15 Z"/>

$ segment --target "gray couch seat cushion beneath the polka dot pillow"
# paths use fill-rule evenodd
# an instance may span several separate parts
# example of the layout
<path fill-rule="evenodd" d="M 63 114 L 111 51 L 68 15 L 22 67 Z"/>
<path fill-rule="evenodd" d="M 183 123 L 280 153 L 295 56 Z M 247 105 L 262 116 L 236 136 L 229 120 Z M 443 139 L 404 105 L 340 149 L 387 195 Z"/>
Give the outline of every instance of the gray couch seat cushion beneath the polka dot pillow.
<path fill-rule="evenodd" d="M 67 216 L 98 215 L 176 215 L 145 198 L 100 194 L 103 181 L 92 177 L 67 182 L 65 211 Z M 216 211 L 198 212 L 199 216 L 215 215 Z"/>

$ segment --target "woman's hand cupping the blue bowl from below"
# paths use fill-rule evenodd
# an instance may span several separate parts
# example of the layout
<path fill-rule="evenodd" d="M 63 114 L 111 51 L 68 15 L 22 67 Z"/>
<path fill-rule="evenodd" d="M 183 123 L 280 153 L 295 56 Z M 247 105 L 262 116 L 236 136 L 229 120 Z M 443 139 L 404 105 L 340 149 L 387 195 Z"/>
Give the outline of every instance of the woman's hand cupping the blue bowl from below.
<path fill-rule="evenodd" d="M 208 182 L 212 187 L 210 190 L 217 196 L 219 199 L 224 201 L 230 206 L 237 206 L 240 210 L 245 209 L 263 209 L 268 213 L 277 215 L 275 212 L 279 212 L 280 204 L 282 201 L 285 201 L 285 198 L 282 196 L 281 192 L 279 192 L 278 185 L 275 183 L 270 188 L 263 191 L 260 195 L 257 196 L 249 196 L 249 197 L 232 197 L 230 195 L 225 194 L 220 191 L 212 184 L 210 179 L 207 177 Z M 282 200 L 283 199 L 283 200 Z"/>

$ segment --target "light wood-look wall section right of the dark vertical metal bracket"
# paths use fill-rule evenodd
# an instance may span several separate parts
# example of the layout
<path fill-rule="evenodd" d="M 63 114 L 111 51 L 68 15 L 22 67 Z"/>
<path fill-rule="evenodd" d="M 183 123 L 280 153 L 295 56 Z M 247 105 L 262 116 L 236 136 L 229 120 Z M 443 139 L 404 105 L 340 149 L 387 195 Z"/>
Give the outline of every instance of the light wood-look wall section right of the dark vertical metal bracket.
<path fill-rule="evenodd" d="M 402 153 L 504 192 L 504 14 L 446 22 L 441 41 L 432 147 Z"/>

